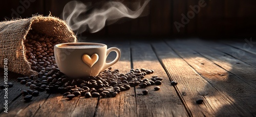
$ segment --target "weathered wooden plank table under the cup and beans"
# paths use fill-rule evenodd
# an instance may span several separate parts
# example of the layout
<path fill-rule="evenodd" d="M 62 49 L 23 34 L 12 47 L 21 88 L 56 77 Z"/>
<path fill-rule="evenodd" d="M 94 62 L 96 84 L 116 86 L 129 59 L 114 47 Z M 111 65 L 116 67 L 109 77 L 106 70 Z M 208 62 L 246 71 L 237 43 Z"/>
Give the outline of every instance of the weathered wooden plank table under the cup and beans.
<path fill-rule="evenodd" d="M 163 77 L 161 89 L 139 87 L 115 98 L 76 97 L 41 92 L 24 102 L 20 94 L 28 87 L 16 81 L 22 75 L 9 72 L 8 113 L 4 112 L 4 90 L 0 90 L 0 116 L 256 116 L 256 44 L 234 41 L 157 40 L 95 41 L 118 47 L 120 61 L 113 69 L 155 70 Z M 115 54 L 110 54 L 113 60 Z M 1 60 L 3 61 L 3 60 Z M 1 84 L 3 83 L 3 69 Z M 147 75 L 146 78 L 151 78 Z M 177 81 L 176 86 L 170 81 Z M 203 99 L 197 104 L 197 99 Z"/>

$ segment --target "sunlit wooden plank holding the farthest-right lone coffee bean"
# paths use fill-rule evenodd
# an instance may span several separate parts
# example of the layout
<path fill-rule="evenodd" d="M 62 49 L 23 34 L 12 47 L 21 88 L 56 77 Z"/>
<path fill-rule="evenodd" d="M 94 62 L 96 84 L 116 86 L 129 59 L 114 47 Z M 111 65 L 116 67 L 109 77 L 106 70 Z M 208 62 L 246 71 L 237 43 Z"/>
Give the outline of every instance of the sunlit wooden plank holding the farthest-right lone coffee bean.
<path fill-rule="evenodd" d="M 223 97 L 213 85 L 202 78 L 180 56 L 164 42 L 152 43 L 157 56 L 164 64 L 168 75 L 178 82 L 175 86 L 181 96 L 190 116 L 237 115 L 240 110 L 227 107 L 230 111 L 219 111 L 223 105 L 232 105 L 232 101 Z M 216 96 L 217 95 L 217 96 Z M 196 104 L 197 99 L 203 99 L 204 104 Z"/>

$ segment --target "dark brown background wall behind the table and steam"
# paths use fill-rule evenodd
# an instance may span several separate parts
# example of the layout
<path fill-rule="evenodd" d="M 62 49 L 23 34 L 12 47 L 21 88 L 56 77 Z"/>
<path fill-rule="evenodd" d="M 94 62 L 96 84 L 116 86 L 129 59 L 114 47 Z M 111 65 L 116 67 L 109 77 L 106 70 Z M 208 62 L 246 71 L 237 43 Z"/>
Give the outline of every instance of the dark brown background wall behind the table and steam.
<path fill-rule="evenodd" d="M 22 2 L 29 0 L 20 0 Z M 12 9 L 23 6 L 17 0 L 1 1 L 0 18 L 11 18 Z M 25 8 L 20 17 L 31 17 L 32 14 L 49 15 L 59 17 L 67 0 L 30 0 L 30 6 Z M 99 2 L 86 0 L 83 3 Z M 122 1 L 129 6 L 129 2 Z M 201 7 L 200 12 L 191 18 L 185 27 L 176 30 L 174 22 L 181 23 L 181 14 L 191 11 L 189 6 L 198 5 L 199 0 L 152 0 L 149 5 L 150 14 L 145 17 L 117 22 L 105 26 L 100 32 L 84 32 L 84 37 L 131 37 L 131 38 L 250 38 L 256 33 L 255 0 L 205 0 L 206 6 Z"/>

